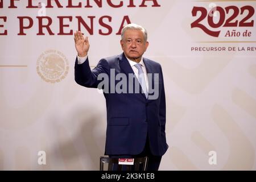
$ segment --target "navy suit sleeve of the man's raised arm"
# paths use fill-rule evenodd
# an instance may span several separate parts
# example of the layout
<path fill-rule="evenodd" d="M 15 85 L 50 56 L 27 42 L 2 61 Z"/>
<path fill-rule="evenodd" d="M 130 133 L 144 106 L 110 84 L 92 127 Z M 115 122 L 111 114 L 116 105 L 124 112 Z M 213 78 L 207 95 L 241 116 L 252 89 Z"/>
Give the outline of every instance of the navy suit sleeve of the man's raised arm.
<path fill-rule="evenodd" d="M 101 80 L 97 80 L 97 77 L 101 73 L 109 74 L 109 64 L 105 59 L 101 59 L 97 66 L 91 70 L 88 58 L 84 63 L 78 64 L 76 57 L 75 81 L 77 84 L 88 88 L 97 88 L 101 82 Z"/>

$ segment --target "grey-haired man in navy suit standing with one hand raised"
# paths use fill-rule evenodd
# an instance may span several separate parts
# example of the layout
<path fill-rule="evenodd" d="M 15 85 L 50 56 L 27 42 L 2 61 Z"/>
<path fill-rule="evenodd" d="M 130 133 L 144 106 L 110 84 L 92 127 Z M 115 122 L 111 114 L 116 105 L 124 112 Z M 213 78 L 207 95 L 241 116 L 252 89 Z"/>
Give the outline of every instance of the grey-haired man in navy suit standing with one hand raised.
<path fill-rule="evenodd" d="M 128 24 L 121 36 L 123 53 L 101 59 L 91 70 L 88 37 L 76 31 L 75 81 L 104 90 L 108 123 L 105 155 L 148 156 L 148 170 L 158 170 L 168 148 L 162 68 L 159 63 L 142 57 L 148 47 L 147 31 L 143 27 Z"/>

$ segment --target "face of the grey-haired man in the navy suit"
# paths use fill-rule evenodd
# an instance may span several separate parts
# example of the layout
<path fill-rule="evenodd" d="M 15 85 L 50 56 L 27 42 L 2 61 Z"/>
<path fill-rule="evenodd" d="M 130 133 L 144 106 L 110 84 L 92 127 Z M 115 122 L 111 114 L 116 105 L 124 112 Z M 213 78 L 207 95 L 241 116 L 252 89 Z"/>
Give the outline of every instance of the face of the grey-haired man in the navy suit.
<path fill-rule="evenodd" d="M 141 60 L 143 53 L 148 47 L 148 42 L 145 42 L 141 30 L 126 30 L 120 43 L 126 57 L 136 62 Z"/>

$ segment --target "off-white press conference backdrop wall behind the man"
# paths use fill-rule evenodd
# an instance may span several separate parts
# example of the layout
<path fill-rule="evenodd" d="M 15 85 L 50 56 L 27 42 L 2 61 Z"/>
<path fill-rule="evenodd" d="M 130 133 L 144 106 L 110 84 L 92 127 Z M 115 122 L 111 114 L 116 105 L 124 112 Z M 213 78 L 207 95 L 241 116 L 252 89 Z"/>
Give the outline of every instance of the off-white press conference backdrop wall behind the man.
<path fill-rule="evenodd" d="M 38 2 L 44 1 L 35 0 L 33 5 Z M 170 148 L 160 170 L 256 169 L 255 25 L 212 28 L 221 30 L 218 38 L 191 28 L 200 16 L 192 16 L 193 7 L 205 7 L 209 12 L 209 1 L 138 0 L 135 7 L 127 7 L 130 1 L 111 1 L 115 5 L 123 2 L 119 8 L 106 1 L 101 8 L 95 1 L 89 1 L 91 8 L 85 8 L 86 1 L 81 0 L 72 1 L 73 5 L 82 2 L 81 8 L 67 8 L 67 1 L 60 2 L 63 8 L 53 1 L 53 8 L 45 12 L 52 19 L 55 35 L 49 35 L 46 28 L 45 35 L 36 35 L 40 8 L 26 8 L 28 1 L 15 1 L 17 8 L 2 1 L 1 8 L 0 1 L 0 34 L 7 30 L 7 35 L 0 35 L 0 169 L 98 170 L 99 157 L 104 155 L 104 96 L 76 84 L 73 36 L 57 35 L 57 16 L 72 16 L 72 22 L 64 19 L 69 25 L 64 32 L 78 29 L 76 16 L 82 16 L 88 25 L 87 16 L 95 16 L 93 35 L 89 35 L 92 66 L 102 57 L 122 52 L 120 36 L 115 34 L 123 16 L 147 29 L 150 46 L 144 56 L 162 65 L 166 87 Z M 147 7 L 139 7 L 142 3 Z M 152 7 L 154 3 L 160 7 Z M 255 1 L 214 3 L 223 8 L 256 7 Z M 29 16 L 34 22 L 24 30 L 26 35 L 18 35 L 18 16 Z M 110 35 L 98 32 L 108 32 L 99 23 L 102 16 L 112 17 L 111 22 L 104 19 L 113 29 Z M 255 21 L 256 15 L 247 22 L 250 20 Z M 207 24 L 207 18 L 201 23 Z M 251 36 L 225 37 L 228 30 L 248 30 Z M 84 27 L 82 31 L 88 35 Z M 226 51 L 192 51 L 192 47 L 225 47 Z M 227 51 L 228 47 L 236 47 L 236 51 Z M 39 151 L 46 152 L 46 165 L 38 164 Z M 209 164 L 210 151 L 216 152 L 217 164 Z"/>

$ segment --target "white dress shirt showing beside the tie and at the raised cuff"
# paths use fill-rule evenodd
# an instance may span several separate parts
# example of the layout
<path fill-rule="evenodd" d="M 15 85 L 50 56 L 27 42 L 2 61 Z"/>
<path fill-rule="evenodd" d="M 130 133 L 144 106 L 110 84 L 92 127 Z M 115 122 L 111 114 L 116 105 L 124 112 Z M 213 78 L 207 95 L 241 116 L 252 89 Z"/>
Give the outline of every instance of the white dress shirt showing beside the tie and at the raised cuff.
<path fill-rule="evenodd" d="M 78 64 L 84 63 L 84 62 L 86 61 L 87 57 L 88 57 L 88 55 L 85 56 L 85 57 L 80 57 L 80 56 L 77 55 L 77 60 L 78 60 L 77 63 L 78 63 Z M 131 68 L 133 69 L 133 72 L 134 72 L 135 76 L 138 78 L 138 72 L 139 72 L 139 71 L 138 71 L 138 69 L 135 67 L 135 64 L 137 64 L 137 63 L 136 63 L 135 61 L 132 61 L 132 60 L 128 59 L 127 57 L 126 57 L 126 59 L 129 61 L 129 64 L 131 65 Z M 145 80 L 146 80 L 146 87 L 147 87 L 147 92 L 148 92 L 147 69 L 146 69 L 146 66 L 145 66 L 145 64 L 144 64 L 143 57 L 142 57 L 141 61 L 139 62 L 139 64 L 142 65 L 142 70 L 143 70 L 143 73 L 144 73 L 144 78 L 145 78 Z"/>

